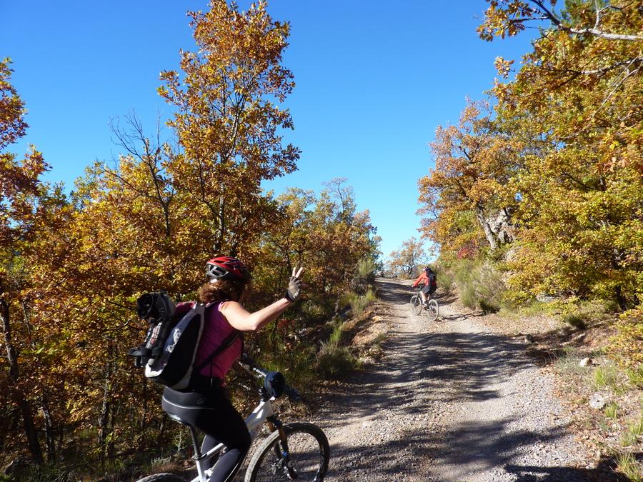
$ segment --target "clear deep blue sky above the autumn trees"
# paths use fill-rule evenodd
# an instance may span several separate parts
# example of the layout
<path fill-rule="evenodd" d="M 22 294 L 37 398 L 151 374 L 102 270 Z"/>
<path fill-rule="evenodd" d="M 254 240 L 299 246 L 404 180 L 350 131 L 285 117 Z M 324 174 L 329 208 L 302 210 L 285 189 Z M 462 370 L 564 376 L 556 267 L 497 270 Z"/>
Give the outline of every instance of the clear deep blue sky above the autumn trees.
<path fill-rule="evenodd" d="M 417 180 L 432 169 L 436 127 L 457 121 L 466 96 L 492 86 L 496 56 L 519 59 L 530 49 L 529 34 L 478 39 L 487 5 L 269 1 L 271 16 L 291 23 L 284 65 L 296 88 L 285 106 L 295 130 L 286 141 L 302 154 L 299 171 L 266 188 L 319 191 L 346 177 L 385 255 L 418 236 Z M 178 68 L 179 49 L 194 49 L 185 13 L 199 9 L 207 1 L 0 3 L 0 56 L 14 61 L 13 84 L 29 110 L 24 143 L 44 153 L 49 181 L 71 186 L 92 161 L 119 154 L 110 118 L 135 109 L 153 132 L 156 112 L 169 112 L 156 94 L 159 72 Z"/>

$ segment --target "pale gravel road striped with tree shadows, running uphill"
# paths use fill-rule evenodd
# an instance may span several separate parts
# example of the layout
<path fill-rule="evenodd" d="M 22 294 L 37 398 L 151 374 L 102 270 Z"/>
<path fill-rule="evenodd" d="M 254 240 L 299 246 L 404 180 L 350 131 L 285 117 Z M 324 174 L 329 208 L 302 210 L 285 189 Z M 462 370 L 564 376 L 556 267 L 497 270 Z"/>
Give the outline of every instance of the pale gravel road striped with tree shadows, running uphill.
<path fill-rule="evenodd" d="M 384 358 L 340 384 L 314 416 L 331 444 L 327 481 L 593 481 L 552 378 L 524 346 L 438 297 L 414 316 L 408 281 L 378 278 Z"/>

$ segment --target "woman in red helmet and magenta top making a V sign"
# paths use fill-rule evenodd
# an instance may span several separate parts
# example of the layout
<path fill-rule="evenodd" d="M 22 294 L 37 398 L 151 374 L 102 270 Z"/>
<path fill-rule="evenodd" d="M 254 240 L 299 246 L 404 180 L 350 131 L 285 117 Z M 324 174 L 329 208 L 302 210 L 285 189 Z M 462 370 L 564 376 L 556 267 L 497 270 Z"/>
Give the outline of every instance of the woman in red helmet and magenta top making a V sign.
<path fill-rule="evenodd" d="M 209 281 L 199 288 L 199 299 L 214 304 L 206 310 L 194 366 L 206 362 L 222 341 L 234 338 L 231 333 L 235 330 L 240 333 L 228 348 L 193 375 L 189 389 L 165 388 L 161 403 L 166 412 L 176 414 L 206 434 L 202 453 L 219 443 L 226 446 L 226 453 L 214 464 L 212 482 L 231 481 L 250 448 L 250 434 L 244 419 L 224 393 L 226 373 L 243 351 L 243 332 L 259 331 L 299 298 L 302 270 L 292 271 L 284 298 L 249 313 L 241 304 L 250 281 L 250 272 L 244 263 L 230 256 L 217 256 L 206 263 Z"/>

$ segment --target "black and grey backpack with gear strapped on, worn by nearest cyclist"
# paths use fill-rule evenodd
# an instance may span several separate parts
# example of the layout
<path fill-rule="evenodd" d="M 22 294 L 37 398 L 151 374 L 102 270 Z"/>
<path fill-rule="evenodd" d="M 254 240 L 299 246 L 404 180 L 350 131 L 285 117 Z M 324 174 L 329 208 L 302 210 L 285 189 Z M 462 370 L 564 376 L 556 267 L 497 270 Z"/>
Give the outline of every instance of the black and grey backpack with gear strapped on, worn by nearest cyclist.
<path fill-rule="evenodd" d="M 145 293 L 136 301 L 137 311 L 149 320 L 144 343 L 132 348 L 134 365 L 145 367 L 145 376 L 161 385 L 182 390 L 189 388 L 196 376 L 214 357 L 232 345 L 239 336 L 234 330 L 205 361 L 194 366 L 205 323 L 205 311 L 214 303 L 194 303 L 187 313 L 177 314 L 176 306 L 167 293 Z"/>

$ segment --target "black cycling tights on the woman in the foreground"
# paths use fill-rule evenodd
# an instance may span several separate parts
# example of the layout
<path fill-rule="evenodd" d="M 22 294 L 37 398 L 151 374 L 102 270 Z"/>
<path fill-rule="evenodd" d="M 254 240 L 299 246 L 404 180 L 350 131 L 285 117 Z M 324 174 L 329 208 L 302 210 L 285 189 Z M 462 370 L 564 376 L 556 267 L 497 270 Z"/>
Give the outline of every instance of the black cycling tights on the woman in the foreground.
<path fill-rule="evenodd" d="M 164 411 L 179 416 L 206 434 L 201 446 L 203 453 L 219 443 L 226 446 L 226 453 L 214 464 L 210 481 L 231 481 L 239 471 L 251 440 L 244 419 L 226 398 L 223 388 L 206 394 L 165 388 L 162 404 Z"/>

